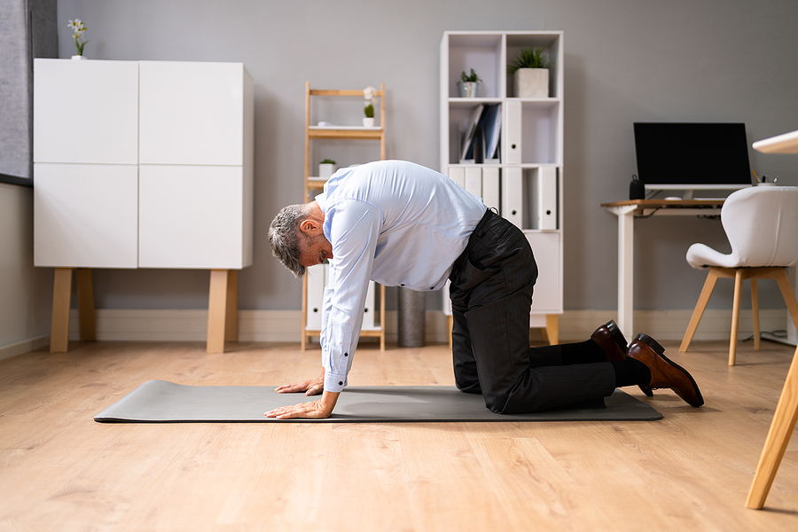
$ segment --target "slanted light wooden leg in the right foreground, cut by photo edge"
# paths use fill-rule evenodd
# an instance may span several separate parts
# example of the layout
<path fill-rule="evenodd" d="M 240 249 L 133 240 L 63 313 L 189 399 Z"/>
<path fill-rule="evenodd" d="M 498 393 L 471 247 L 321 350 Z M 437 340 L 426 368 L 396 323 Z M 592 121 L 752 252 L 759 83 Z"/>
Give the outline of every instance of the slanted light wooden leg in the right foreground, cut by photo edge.
<path fill-rule="evenodd" d="M 771 428 L 765 440 L 759 464 L 756 465 L 754 481 L 748 491 L 746 506 L 756 510 L 763 507 L 773 479 L 776 478 L 778 465 L 784 458 L 784 451 L 790 442 L 790 436 L 798 420 L 798 349 L 795 350 L 793 363 L 784 383 L 784 389 L 778 399 L 776 413 L 773 415 Z"/>

